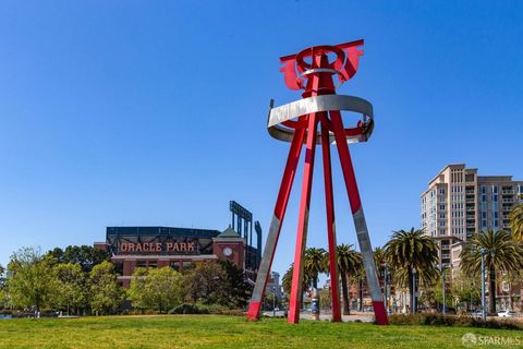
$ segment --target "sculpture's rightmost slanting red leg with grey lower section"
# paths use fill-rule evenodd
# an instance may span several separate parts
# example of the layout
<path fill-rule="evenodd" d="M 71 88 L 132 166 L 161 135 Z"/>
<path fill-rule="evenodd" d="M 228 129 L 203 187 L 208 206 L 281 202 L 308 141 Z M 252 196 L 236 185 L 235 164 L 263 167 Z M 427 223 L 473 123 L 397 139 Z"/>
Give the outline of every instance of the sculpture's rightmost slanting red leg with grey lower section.
<path fill-rule="evenodd" d="M 373 246 L 370 238 L 368 237 L 367 222 L 363 214 L 362 201 L 357 190 L 356 177 L 352 166 L 351 154 L 346 144 L 346 139 L 343 131 L 343 121 L 339 111 L 330 111 L 332 123 L 332 132 L 335 133 L 336 145 L 340 155 L 341 169 L 345 180 L 346 192 L 351 203 L 352 217 L 356 227 L 357 242 L 362 251 L 363 264 L 367 275 L 367 284 L 370 289 L 370 298 L 373 300 L 374 314 L 378 325 L 387 325 L 388 317 L 385 310 L 384 294 L 379 287 L 378 275 L 376 272 L 376 264 L 374 262 Z"/>

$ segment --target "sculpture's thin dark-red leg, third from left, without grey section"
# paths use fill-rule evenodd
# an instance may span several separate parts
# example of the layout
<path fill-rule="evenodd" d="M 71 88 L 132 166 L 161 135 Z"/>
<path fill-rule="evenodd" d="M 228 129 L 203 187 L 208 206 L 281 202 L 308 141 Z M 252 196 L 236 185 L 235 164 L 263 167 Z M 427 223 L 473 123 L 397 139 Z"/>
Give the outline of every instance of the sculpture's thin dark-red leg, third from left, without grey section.
<path fill-rule="evenodd" d="M 332 298 L 332 322 L 341 321 L 340 282 L 336 255 L 335 198 L 332 195 L 332 169 L 330 166 L 330 142 L 327 112 L 321 113 L 321 149 L 324 157 L 325 202 L 327 206 L 327 234 L 329 241 L 330 294 Z"/>

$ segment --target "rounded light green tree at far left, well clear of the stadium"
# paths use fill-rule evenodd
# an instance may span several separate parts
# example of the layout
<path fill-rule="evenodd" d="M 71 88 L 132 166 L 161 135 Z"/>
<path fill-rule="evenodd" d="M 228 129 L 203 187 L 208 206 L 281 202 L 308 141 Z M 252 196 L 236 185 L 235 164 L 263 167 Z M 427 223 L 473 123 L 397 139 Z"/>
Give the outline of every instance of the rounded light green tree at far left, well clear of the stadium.
<path fill-rule="evenodd" d="M 13 253 L 8 270 L 9 296 L 15 306 L 35 306 L 38 312 L 52 305 L 57 282 L 49 258 L 39 249 L 23 248 Z"/>

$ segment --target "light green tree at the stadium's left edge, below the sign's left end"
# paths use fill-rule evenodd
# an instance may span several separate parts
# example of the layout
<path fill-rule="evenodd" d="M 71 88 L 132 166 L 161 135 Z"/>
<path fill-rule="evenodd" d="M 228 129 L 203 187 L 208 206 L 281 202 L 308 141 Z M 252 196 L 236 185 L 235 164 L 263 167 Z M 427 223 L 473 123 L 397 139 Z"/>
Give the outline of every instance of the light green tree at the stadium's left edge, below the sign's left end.
<path fill-rule="evenodd" d="M 102 262 L 93 267 L 90 279 L 90 308 L 100 314 L 117 312 L 122 303 L 123 290 L 117 282 L 114 265 Z"/>

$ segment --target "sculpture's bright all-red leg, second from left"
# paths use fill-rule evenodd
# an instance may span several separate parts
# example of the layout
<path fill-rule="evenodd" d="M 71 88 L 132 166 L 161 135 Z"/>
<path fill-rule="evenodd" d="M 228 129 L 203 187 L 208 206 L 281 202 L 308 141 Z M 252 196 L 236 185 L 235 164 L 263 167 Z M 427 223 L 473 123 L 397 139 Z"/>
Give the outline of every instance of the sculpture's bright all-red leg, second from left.
<path fill-rule="evenodd" d="M 318 117 L 316 113 L 308 116 L 307 147 L 305 151 L 305 165 L 303 167 L 302 198 L 300 202 L 300 216 L 297 220 L 296 248 L 294 251 L 294 266 L 292 272 L 291 300 L 289 302 L 289 323 L 300 322 L 300 308 L 303 279 L 303 254 L 307 241 L 308 208 L 311 204 L 311 188 L 313 184 L 314 154 L 316 149 L 316 129 Z"/>

